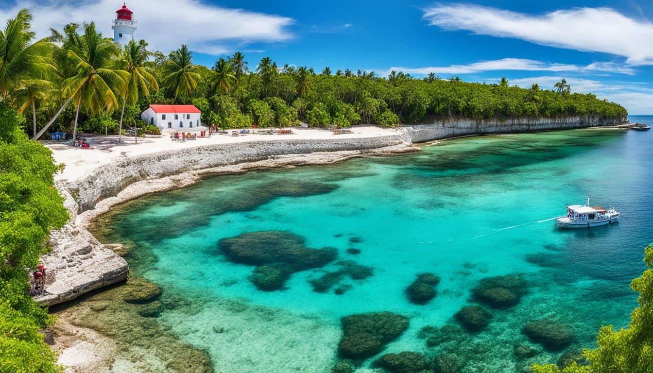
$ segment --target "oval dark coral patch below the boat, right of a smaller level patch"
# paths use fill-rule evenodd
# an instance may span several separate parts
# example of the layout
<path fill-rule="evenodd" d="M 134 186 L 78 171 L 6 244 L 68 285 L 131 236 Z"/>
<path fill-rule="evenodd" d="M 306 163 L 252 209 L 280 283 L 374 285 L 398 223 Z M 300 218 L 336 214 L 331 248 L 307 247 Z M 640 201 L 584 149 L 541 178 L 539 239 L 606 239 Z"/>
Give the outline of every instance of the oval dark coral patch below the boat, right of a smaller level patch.
<path fill-rule="evenodd" d="M 473 297 L 492 308 L 509 308 L 526 294 L 524 278 L 518 274 L 484 278 L 473 289 Z"/>

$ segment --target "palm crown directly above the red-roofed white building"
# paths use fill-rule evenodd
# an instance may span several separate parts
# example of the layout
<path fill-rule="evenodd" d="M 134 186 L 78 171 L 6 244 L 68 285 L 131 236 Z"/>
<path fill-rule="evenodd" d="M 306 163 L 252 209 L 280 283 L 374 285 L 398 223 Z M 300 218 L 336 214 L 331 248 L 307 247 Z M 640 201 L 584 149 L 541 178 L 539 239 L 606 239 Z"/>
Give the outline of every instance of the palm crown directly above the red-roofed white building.
<path fill-rule="evenodd" d="M 174 91 L 174 100 L 179 95 L 190 95 L 197 88 L 201 76 L 193 65 L 193 54 L 186 44 L 170 54 L 170 60 L 163 67 L 163 80 L 168 89 Z"/>

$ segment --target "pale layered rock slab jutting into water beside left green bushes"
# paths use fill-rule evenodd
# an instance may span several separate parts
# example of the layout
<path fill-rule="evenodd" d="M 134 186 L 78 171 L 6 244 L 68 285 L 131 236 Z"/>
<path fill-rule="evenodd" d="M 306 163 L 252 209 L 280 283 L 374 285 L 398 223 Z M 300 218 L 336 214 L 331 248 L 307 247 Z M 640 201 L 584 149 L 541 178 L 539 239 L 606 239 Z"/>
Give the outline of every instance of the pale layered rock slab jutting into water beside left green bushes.
<path fill-rule="evenodd" d="M 46 285 L 35 297 L 41 304 L 57 304 L 75 299 L 100 287 L 127 278 L 125 259 L 101 244 L 83 227 L 76 225 L 76 203 L 59 187 L 71 219 L 63 228 L 50 233 L 52 251 L 41 257 L 47 268 Z"/>

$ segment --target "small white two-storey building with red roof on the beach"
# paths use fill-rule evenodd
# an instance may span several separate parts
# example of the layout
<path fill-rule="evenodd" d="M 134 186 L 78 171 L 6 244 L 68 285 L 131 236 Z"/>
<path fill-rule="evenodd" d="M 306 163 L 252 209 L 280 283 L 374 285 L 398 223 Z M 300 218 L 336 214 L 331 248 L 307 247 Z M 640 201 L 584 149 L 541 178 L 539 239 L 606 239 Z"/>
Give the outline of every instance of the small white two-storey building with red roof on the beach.
<path fill-rule="evenodd" d="M 195 105 L 150 105 L 140 119 L 164 132 L 197 132 L 207 129 L 202 126 L 201 114 Z"/>

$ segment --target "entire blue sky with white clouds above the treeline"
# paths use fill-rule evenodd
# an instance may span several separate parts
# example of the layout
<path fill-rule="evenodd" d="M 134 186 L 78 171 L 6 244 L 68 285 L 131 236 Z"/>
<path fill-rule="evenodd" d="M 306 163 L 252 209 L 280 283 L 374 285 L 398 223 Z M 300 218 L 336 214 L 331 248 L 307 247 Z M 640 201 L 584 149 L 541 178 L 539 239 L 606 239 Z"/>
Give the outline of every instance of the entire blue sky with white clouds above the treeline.
<path fill-rule="evenodd" d="M 0 0 L 0 21 L 27 7 L 34 29 L 94 20 L 105 35 L 120 1 Z M 186 43 L 196 63 L 244 52 L 249 66 L 270 56 L 278 65 L 357 69 L 387 74 L 552 88 L 616 101 L 630 114 L 653 114 L 653 1 L 134 0 L 137 37 L 169 52 Z"/>

